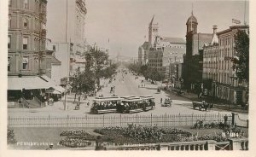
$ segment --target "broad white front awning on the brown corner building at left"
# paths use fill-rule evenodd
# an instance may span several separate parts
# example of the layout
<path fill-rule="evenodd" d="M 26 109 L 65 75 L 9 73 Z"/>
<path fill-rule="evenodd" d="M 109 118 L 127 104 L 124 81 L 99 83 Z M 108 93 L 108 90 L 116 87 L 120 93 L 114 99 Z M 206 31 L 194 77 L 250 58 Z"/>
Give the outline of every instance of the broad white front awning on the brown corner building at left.
<path fill-rule="evenodd" d="M 48 89 L 51 85 L 38 76 L 29 77 L 9 77 L 8 90 L 34 90 Z"/>

